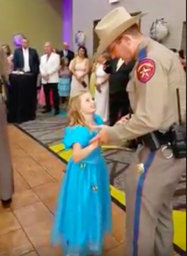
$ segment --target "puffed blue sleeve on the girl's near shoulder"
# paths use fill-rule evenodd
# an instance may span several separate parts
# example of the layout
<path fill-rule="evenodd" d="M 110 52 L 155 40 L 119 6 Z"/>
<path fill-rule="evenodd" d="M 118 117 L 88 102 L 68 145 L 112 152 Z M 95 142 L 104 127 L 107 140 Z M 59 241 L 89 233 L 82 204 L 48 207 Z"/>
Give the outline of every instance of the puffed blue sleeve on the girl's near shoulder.
<path fill-rule="evenodd" d="M 79 143 L 82 147 L 85 147 L 88 145 L 89 140 L 90 133 L 88 128 L 84 126 L 68 126 L 65 128 L 62 143 L 66 149 L 70 149 L 74 143 Z"/>

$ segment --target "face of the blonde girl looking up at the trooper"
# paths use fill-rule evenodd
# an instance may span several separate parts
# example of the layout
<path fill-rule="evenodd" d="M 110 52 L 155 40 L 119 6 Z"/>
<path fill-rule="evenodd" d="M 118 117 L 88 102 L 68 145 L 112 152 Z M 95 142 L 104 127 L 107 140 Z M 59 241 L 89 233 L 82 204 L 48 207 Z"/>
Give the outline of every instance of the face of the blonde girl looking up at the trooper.
<path fill-rule="evenodd" d="M 95 113 L 96 105 L 90 92 L 85 92 L 80 96 L 80 106 L 83 114 Z"/>

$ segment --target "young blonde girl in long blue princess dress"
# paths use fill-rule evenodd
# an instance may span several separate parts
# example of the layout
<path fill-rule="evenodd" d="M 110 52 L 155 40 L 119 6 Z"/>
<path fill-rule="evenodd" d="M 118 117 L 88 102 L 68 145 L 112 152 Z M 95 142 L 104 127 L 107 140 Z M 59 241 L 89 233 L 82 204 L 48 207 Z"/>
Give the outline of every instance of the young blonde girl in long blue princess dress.
<path fill-rule="evenodd" d="M 111 231 L 111 198 L 99 141 L 89 141 L 97 133 L 90 127 L 103 121 L 94 114 L 95 102 L 86 91 L 70 98 L 68 110 L 63 143 L 72 149 L 72 157 L 58 195 L 52 243 L 61 243 L 63 255 L 99 255 Z"/>

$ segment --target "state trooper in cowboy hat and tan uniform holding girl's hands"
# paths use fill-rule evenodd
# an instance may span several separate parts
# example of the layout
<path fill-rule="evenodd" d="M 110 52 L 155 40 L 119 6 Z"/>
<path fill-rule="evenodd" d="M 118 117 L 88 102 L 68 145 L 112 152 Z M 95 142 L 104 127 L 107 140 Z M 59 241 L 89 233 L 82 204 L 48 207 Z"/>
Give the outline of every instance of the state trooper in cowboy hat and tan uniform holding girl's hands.
<path fill-rule="evenodd" d="M 125 116 L 111 127 L 93 126 L 100 131 L 90 142 L 121 143 L 149 135 L 150 142 L 138 147 L 126 172 L 126 255 L 172 256 L 172 197 L 186 171 L 186 157 L 172 156 L 170 148 L 164 150 L 168 144 L 165 134 L 178 122 L 177 88 L 183 94 L 185 118 L 186 75 L 170 49 L 141 33 L 138 23 L 145 14 L 131 16 L 118 7 L 95 28 L 100 39 L 98 55 L 108 50 L 126 62 L 136 59 L 136 64 L 127 86 L 131 118 Z"/>

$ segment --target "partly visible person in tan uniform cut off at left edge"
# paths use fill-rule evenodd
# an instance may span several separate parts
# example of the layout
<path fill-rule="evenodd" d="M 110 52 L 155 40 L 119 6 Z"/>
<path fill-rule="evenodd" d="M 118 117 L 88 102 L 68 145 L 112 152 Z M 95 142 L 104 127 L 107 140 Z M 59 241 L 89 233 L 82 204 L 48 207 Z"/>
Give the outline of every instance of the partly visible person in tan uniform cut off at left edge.
<path fill-rule="evenodd" d="M 2 49 L 0 49 L 0 81 L 2 87 L 6 86 L 5 83 L 8 81 L 8 62 Z M 13 173 L 7 136 L 5 95 L 2 93 L 5 91 L 2 88 L 0 90 L 0 200 L 3 206 L 9 206 L 13 193 Z"/>

